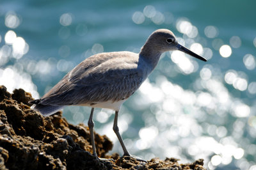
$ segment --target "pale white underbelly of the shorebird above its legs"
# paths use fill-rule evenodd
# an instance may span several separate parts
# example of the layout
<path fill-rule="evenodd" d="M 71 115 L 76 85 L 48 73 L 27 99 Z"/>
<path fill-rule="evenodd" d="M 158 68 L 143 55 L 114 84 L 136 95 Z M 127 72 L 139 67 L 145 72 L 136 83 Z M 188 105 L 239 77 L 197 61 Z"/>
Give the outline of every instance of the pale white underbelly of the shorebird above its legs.
<path fill-rule="evenodd" d="M 79 104 L 79 105 L 88 106 L 88 107 L 112 109 L 114 111 L 119 111 L 121 105 L 125 102 L 125 100 L 120 100 L 118 102 L 113 102 L 113 101 L 109 100 L 107 102 L 98 102 L 98 103 L 95 102 L 93 104 Z"/>

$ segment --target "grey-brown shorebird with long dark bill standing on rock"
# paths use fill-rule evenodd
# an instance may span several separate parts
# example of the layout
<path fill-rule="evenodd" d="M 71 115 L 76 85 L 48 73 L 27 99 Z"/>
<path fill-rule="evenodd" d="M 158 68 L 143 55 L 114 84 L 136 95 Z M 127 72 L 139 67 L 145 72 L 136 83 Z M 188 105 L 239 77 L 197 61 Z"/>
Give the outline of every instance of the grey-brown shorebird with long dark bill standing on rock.
<path fill-rule="evenodd" d="M 161 54 L 170 50 L 180 50 L 207 61 L 180 45 L 172 31 L 157 29 L 148 37 L 139 54 L 128 51 L 104 52 L 84 59 L 42 98 L 31 100 L 31 108 L 49 116 L 67 105 L 92 107 L 88 127 L 95 157 L 94 108 L 112 109 L 115 111 L 113 130 L 124 150 L 124 156 L 134 157 L 126 149 L 119 133 L 118 112 L 125 100 L 140 88 L 142 82 L 156 68 Z"/>

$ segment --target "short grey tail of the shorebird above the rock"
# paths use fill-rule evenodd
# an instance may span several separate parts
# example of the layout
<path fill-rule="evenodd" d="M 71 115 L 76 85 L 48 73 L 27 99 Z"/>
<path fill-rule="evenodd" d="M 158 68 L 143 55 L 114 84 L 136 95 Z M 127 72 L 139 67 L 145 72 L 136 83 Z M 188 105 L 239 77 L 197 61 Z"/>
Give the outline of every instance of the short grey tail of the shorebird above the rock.
<path fill-rule="evenodd" d="M 31 109 L 39 111 L 43 116 L 50 116 L 51 114 L 60 111 L 64 107 L 63 105 L 43 105 L 40 104 L 40 99 L 31 100 L 29 101 L 29 104 L 33 104 Z"/>

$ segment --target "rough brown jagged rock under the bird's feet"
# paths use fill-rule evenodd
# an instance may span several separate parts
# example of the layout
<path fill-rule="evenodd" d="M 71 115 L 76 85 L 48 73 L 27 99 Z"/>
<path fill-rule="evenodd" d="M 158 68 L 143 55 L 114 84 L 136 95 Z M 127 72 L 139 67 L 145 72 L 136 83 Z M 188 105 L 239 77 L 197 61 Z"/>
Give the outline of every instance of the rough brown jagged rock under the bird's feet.
<path fill-rule="evenodd" d="M 93 157 L 90 131 L 83 123 L 72 125 L 61 112 L 48 117 L 30 109 L 31 94 L 15 89 L 11 95 L 0 86 L 0 169 L 204 169 L 202 159 L 179 164 L 175 158 L 147 163 L 132 157 L 107 155 L 113 144 L 95 133 L 99 160 Z"/>

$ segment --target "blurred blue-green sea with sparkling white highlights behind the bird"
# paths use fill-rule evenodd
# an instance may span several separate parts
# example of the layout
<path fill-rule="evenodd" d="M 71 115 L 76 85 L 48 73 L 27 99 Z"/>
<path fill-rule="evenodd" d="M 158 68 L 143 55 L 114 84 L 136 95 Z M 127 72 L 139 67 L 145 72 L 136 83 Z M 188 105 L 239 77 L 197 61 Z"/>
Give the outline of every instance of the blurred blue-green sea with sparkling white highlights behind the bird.
<path fill-rule="evenodd" d="M 163 54 L 124 103 L 118 125 L 138 157 L 204 158 L 207 169 L 256 169 L 256 1 L 0 1 L 0 84 L 39 98 L 99 52 L 139 52 L 159 28 L 208 59 Z M 114 112 L 96 109 L 95 131 L 122 148 Z M 88 107 L 66 107 L 87 124 Z"/>

